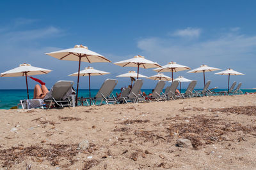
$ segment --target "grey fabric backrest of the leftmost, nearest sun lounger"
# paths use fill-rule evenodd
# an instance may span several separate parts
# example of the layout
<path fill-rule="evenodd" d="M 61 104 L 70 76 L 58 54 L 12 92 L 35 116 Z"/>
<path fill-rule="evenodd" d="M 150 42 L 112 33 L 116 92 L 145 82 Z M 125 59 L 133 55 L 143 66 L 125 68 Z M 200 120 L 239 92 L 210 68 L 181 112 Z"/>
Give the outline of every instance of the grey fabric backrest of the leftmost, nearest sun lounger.
<path fill-rule="evenodd" d="M 74 85 L 73 81 L 64 81 L 60 80 L 57 81 L 53 86 L 51 90 L 51 96 L 58 100 L 61 99 L 65 94 L 72 88 Z"/>

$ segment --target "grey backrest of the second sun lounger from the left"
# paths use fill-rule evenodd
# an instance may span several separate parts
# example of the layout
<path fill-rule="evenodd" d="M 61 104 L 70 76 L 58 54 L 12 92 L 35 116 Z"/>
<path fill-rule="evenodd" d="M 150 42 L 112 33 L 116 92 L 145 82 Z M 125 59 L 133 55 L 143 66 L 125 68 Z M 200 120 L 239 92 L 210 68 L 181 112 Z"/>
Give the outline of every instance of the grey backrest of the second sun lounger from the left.
<path fill-rule="evenodd" d="M 116 87 L 117 80 L 115 79 L 107 79 L 104 81 L 102 86 L 100 87 L 100 90 L 97 92 L 95 99 L 102 99 L 102 95 L 104 97 L 109 97 L 111 95 L 111 92 Z"/>

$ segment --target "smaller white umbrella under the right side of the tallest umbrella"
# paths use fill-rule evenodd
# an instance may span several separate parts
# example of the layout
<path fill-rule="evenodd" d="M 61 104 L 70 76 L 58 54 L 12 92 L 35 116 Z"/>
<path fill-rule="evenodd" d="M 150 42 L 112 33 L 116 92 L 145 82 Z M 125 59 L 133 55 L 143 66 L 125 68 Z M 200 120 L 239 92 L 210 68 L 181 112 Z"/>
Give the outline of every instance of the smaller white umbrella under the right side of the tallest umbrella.
<path fill-rule="evenodd" d="M 91 79 L 90 76 L 102 76 L 105 74 L 109 74 L 108 72 L 105 71 L 100 71 L 97 69 L 93 69 L 93 67 L 85 67 L 84 70 L 80 71 L 80 74 L 77 73 L 73 73 L 73 74 L 69 74 L 68 76 L 89 76 L 89 92 L 90 92 L 90 97 L 91 97 Z"/>

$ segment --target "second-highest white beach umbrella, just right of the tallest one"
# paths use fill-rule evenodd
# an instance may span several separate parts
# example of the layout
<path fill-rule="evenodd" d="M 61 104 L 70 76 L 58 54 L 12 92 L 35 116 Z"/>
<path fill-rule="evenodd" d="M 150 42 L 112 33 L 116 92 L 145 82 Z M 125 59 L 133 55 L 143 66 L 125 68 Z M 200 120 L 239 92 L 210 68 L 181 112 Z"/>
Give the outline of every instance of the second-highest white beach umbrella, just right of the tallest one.
<path fill-rule="evenodd" d="M 159 64 L 157 64 L 157 62 L 152 62 L 150 60 L 147 60 L 145 59 L 145 57 L 141 55 L 136 55 L 132 59 L 122 60 L 119 62 L 115 62 L 114 64 L 121 67 L 138 67 L 137 79 L 139 78 L 140 67 L 145 69 L 161 67 Z"/>

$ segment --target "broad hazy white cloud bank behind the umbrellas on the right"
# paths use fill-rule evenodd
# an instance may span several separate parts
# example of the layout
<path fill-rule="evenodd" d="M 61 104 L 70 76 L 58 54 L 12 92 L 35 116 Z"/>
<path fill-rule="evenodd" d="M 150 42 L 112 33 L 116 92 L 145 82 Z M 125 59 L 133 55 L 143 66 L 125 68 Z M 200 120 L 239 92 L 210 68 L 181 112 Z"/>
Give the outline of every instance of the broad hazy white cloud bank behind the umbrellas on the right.
<path fill-rule="evenodd" d="M 218 34 L 218 33 L 217 33 Z M 254 76 L 256 62 L 256 36 L 246 36 L 227 32 L 227 34 L 214 39 L 206 39 L 204 41 L 189 41 L 189 39 L 177 38 L 145 38 L 138 41 L 138 48 L 143 52 L 143 55 L 159 64 L 166 64 L 174 61 L 179 64 L 184 64 L 191 68 L 207 64 L 212 67 L 220 67 L 227 69 L 228 67 L 245 73 L 246 76 Z M 201 75 L 186 74 L 186 72 L 175 73 L 176 75 L 188 76 L 188 78 L 198 80 L 201 86 Z M 168 75 L 168 73 L 167 73 Z M 246 76 L 232 76 L 235 81 L 243 81 L 243 87 L 250 87 L 256 80 L 246 81 Z M 219 79 L 214 81 L 212 85 L 226 87 L 225 76 L 216 76 L 212 73 L 207 73 L 208 80 Z M 235 79 L 236 78 L 236 79 Z"/>

